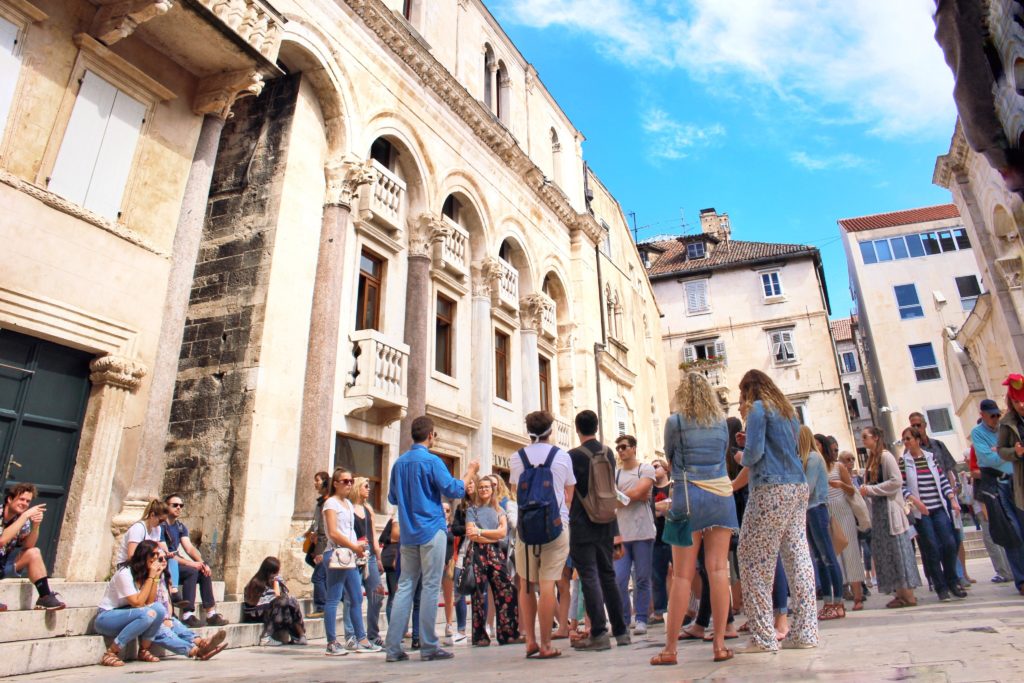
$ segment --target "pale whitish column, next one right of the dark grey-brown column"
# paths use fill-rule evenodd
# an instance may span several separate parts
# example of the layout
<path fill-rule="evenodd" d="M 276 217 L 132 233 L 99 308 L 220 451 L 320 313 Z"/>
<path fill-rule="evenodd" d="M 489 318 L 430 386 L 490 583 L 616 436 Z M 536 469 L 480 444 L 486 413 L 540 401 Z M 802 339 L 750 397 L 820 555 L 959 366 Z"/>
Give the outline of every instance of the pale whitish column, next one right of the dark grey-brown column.
<path fill-rule="evenodd" d="M 489 473 L 494 467 L 493 437 L 490 434 L 490 411 L 495 398 L 495 340 L 490 321 L 490 292 L 498 287 L 494 271 L 484 264 L 473 266 L 472 275 L 472 352 L 471 400 L 473 417 L 480 426 L 470 436 L 469 460 L 480 461 L 480 471 Z"/>

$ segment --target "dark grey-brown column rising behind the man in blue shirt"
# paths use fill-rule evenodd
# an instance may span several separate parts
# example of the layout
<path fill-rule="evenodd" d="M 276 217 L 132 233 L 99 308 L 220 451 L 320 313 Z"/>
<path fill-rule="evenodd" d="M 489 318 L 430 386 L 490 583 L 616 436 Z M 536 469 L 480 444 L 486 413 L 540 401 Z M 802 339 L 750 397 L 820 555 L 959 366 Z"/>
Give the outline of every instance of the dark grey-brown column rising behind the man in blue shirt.
<path fill-rule="evenodd" d="M 415 418 L 427 412 L 427 367 L 430 348 L 430 254 L 452 228 L 439 216 L 423 213 L 411 222 L 409 232 L 409 273 L 406 279 L 406 336 L 409 345 L 409 412 L 401 419 L 398 447 L 413 444 L 409 432 Z"/>

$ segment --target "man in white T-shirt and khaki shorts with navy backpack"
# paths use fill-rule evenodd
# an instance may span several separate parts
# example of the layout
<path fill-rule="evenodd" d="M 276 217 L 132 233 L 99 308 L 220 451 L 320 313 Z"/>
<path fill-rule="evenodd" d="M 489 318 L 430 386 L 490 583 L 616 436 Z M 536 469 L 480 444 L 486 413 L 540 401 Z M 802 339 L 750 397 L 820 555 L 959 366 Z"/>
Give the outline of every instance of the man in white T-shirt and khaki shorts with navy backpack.
<path fill-rule="evenodd" d="M 515 547 L 519 624 L 526 635 L 526 656 L 541 659 L 561 654 L 551 646 L 558 603 L 555 582 L 561 578 L 569 554 L 568 504 L 575 487 L 572 460 L 549 442 L 554 423 L 555 418 L 547 411 L 527 415 L 530 444 L 509 459 L 509 480 L 516 486 L 519 505 Z M 540 593 L 540 602 L 535 587 Z"/>

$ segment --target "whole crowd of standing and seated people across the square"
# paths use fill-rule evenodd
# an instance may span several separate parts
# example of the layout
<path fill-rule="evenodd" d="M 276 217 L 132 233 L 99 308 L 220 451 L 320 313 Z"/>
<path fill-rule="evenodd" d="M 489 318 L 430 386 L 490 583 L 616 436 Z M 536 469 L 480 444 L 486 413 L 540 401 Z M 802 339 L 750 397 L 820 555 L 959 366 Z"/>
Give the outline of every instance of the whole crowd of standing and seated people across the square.
<path fill-rule="evenodd" d="M 650 462 L 629 434 L 613 450 L 602 443 L 593 411 L 575 416 L 580 444 L 568 452 L 551 443 L 553 416 L 530 413 L 530 442 L 511 456 L 508 482 L 480 475 L 476 461 L 454 476 L 431 453 L 433 422 L 416 418 L 413 446 L 390 472 L 395 514 L 379 535 L 366 477 L 316 473 L 304 546 L 308 616 L 324 617 L 328 655 L 383 652 L 389 663 L 409 659 L 410 649 L 421 660 L 451 658 L 444 646 L 467 638 L 474 647 L 522 644 L 527 658 L 547 659 L 562 654 L 558 640 L 577 651 L 607 650 L 654 625 L 664 625 L 665 644 L 653 666 L 677 664 L 683 640 L 710 642 L 715 661 L 813 648 L 820 623 L 844 618 L 848 602 L 863 609 L 872 588 L 891 596 L 887 608 L 916 605 L 926 581 L 940 602 L 967 598 L 974 580 L 965 514 L 983 532 L 992 581 L 1013 582 L 1024 595 L 1024 376 L 1005 384 L 1006 412 L 981 401 L 959 466 L 913 413 L 899 457 L 882 430 L 863 430 L 860 470 L 836 438 L 801 424 L 756 370 L 739 385 L 740 418 L 725 416 L 703 375 L 684 375 L 665 426 L 665 458 Z M 36 548 L 46 513 L 32 505 L 36 496 L 28 483 L 6 493 L 0 575 L 27 572 L 36 607 L 61 609 Z M 101 664 L 123 666 L 136 640 L 141 661 L 160 660 L 154 645 L 199 660 L 227 646 L 219 628 L 227 621 L 183 508 L 178 494 L 154 500 L 122 537 L 95 618 L 96 632 L 111 639 Z M 306 616 L 278 558 L 263 560 L 243 598 L 243 621 L 263 625 L 261 645 L 307 644 Z M 745 623 L 737 627 L 740 612 Z M 199 637 L 203 624 L 219 630 Z M 741 633 L 745 644 L 727 646 Z"/>

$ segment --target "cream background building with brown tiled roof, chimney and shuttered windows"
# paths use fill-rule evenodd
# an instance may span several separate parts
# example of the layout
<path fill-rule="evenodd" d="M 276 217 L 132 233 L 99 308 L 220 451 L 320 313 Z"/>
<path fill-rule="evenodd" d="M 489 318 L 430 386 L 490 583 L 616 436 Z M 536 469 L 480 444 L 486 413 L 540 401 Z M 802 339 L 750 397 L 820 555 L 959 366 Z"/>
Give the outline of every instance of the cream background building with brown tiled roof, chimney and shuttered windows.
<path fill-rule="evenodd" d="M 700 212 L 701 231 L 640 246 L 665 313 L 665 381 L 703 373 L 738 415 L 739 380 L 767 373 L 801 420 L 853 445 L 828 324 L 821 255 L 804 245 L 732 239 L 728 214 Z"/>

